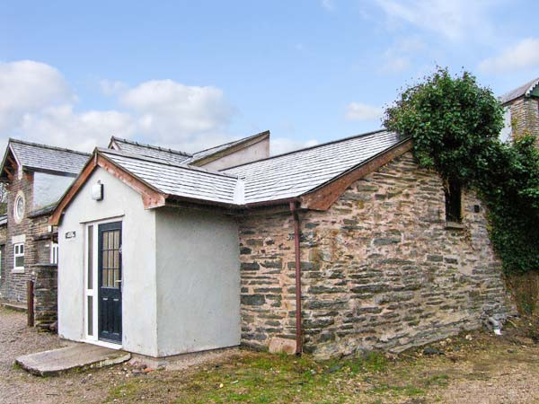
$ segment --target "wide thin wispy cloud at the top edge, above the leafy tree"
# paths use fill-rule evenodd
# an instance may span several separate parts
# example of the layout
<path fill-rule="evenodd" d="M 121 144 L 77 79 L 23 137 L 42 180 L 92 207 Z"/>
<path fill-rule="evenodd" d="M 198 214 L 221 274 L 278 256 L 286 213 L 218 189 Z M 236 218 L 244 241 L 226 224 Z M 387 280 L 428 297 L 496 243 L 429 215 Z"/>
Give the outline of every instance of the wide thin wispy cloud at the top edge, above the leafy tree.
<path fill-rule="evenodd" d="M 488 39 L 491 25 L 487 13 L 492 2 L 487 0 L 376 0 L 391 23 L 407 22 L 428 31 L 435 31 L 449 40 Z"/>

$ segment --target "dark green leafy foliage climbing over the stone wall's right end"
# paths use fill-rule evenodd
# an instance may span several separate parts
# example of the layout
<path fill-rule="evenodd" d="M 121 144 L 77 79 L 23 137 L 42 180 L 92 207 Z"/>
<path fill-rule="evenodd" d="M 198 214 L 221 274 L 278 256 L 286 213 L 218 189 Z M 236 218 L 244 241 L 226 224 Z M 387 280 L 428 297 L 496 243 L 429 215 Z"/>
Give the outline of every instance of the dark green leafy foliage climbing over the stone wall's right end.
<path fill-rule="evenodd" d="M 490 240 L 506 273 L 539 270 L 539 152 L 535 137 L 499 141 L 503 110 L 467 72 L 438 69 L 402 92 L 384 125 L 411 136 L 421 166 L 447 184 L 476 189 L 488 207 Z"/>

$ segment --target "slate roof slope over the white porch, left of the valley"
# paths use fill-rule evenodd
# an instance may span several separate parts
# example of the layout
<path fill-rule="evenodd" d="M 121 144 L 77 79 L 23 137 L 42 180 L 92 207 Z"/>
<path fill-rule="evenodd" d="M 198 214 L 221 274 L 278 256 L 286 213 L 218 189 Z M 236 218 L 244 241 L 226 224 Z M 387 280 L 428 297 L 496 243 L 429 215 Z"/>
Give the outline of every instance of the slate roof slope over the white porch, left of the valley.
<path fill-rule="evenodd" d="M 99 153 L 164 194 L 234 204 L 239 182 L 234 176 L 110 149 L 99 149 Z"/>

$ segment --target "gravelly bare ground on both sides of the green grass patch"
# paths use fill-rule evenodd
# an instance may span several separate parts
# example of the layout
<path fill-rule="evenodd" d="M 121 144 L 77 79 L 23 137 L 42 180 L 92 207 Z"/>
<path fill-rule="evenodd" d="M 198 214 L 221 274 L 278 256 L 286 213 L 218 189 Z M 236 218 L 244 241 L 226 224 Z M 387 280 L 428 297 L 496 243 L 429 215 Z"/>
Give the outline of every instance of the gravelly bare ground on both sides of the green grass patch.
<path fill-rule="evenodd" d="M 0 402 L 3 403 L 147 402 L 148 397 L 151 402 L 172 402 L 178 397 L 187 397 L 188 401 L 212 397 L 208 402 L 214 400 L 213 391 L 219 386 L 202 384 L 203 390 L 191 391 L 193 381 L 201 377 L 204 380 L 208 372 L 224 379 L 227 373 L 247 372 L 239 364 L 242 358 L 253 357 L 256 362 L 257 357 L 267 355 L 240 350 L 225 355 L 188 357 L 183 364 L 176 364 L 175 369 L 181 370 L 146 373 L 141 366 L 119 364 L 41 378 L 14 367 L 15 357 L 63 347 L 66 342 L 56 335 L 27 328 L 25 321 L 24 313 L 0 308 Z M 437 343 L 435 346 L 446 352 L 444 356 L 422 356 L 421 348 L 402 354 L 401 357 L 409 359 L 391 364 L 387 372 L 374 374 L 367 387 L 360 387 L 365 381 L 358 374 L 358 395 L 353 396 L 355 400 L 345 401 L 539 403 L 539 345 L 534 340 L 523 337 L 519 329 L 508 329 L 503 337 L 484 332 L 466 337 Z M 193 366 L 185 369 L 187 364 Z M 437 378 L 433 379 L 433 375 Z M 345 377 L 341 382 L 349 386 L 356 381 Z M 395 395 L 394 388 L 385 388 L 375 396 L 368 393 L 374 385 L 409 384 L 417 384 L 424 392 L 415 397 Z M 292 401 L 305 402 L 299 397 Z"/>

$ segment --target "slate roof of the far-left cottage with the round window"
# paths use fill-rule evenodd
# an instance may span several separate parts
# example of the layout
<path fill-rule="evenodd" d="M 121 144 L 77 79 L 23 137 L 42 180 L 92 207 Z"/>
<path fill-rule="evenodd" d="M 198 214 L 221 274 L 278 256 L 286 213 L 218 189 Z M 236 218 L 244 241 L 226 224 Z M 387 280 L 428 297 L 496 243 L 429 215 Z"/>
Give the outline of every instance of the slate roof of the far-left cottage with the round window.
<path fill-rule="evenodd" d="M 40 145 L 18 139 L 9 139 L 9 147 L 11 147 L 15 158 L 24 168 L 36 171 L 78 174 L 90 157 L 90 154 L 76 152 L 75 150 Z"/>

